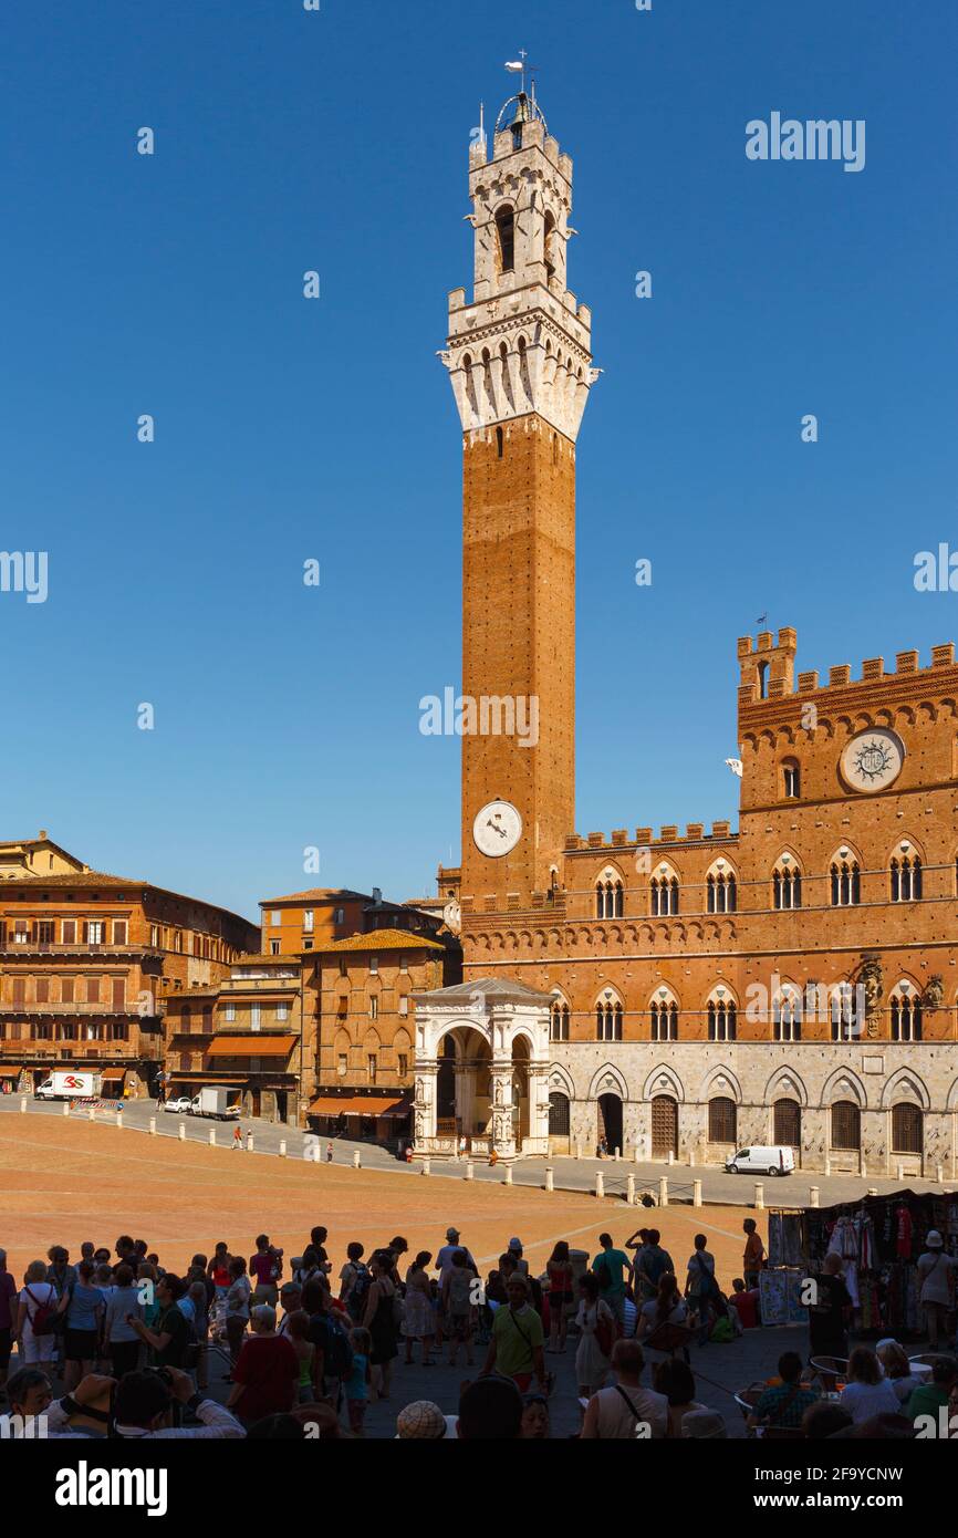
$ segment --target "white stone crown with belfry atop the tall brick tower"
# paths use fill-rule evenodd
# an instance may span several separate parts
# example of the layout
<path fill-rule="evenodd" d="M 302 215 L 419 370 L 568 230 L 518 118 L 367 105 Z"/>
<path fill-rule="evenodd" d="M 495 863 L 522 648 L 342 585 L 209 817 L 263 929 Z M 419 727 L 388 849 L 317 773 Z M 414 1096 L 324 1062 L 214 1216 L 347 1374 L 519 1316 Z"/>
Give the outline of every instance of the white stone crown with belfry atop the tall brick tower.
<path fill-rule="evenodd" d="M 531 95 L 506 102 L 487 158 L 484 131 L 469 149 L 475 286 L 449 295 L 449 369 L 463 431 L 537 412 L 575 443 L 592 368 L 592 314 L 566 283 L 575 234 L 572 160 L 549 137 Z"/>

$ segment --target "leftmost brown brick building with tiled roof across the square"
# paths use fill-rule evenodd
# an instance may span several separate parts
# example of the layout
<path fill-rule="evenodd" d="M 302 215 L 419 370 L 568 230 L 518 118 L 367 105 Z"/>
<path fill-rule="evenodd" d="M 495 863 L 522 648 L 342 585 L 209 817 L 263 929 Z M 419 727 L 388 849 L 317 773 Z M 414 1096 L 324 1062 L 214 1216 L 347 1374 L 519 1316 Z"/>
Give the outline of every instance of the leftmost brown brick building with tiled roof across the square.
<path fill-rule="evenodd" d="M 105 1092 L 154 1090 L 163 1015 L 255 943 L 237 914 L 91 871 L 45 832 L 0 844 L 0 1078 L 32 1089 L 94 1069 Z"/>

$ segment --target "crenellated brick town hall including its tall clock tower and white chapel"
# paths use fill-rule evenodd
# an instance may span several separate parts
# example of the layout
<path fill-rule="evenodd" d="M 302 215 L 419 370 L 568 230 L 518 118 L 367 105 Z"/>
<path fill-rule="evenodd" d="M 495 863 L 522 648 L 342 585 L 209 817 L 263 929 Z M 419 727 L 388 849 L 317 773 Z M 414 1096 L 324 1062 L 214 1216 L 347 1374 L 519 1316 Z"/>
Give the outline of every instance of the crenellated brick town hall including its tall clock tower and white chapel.
<path fill-rule="evenodd" d="M 575 446 L 595 371 L 566 288 L 570 189 L 520 92 L 492 157 L 471 146 L 475 291 L 451 295 L 443 361 L 463 428 L 463 692 L 512 700 L 515 721 L 538 700 L 538 732 L 500 711 L 498 731 L 463 737 L 461 871 L 440 872 L 440 897 L 455 889 L 484 1004 L 472 1023 L 455 990 L 421 1004 L 417 1146 L 451 1150 L 452 1043 L 461 1130 L 504 1157 L 544 1137 L 700 1161 L 787 1143 L 810 1169 L 953 1177 L 950 644 L 823 684 L 795 675 L 795 631 L 744 637 L 738 831 L 572 832 Z"/>

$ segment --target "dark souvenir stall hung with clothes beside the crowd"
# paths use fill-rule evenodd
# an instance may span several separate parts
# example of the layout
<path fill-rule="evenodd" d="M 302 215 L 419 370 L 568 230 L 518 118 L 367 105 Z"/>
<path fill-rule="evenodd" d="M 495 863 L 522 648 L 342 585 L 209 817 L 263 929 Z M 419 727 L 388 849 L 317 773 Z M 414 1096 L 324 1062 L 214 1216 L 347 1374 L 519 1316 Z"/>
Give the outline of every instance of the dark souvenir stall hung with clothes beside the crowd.
<path fill-rule="evenodd" d="M 923 1333 L 918 1306 L 918 1257 L 924 1237 L 936 1229 L 944 1250 L 958 1258 L 958 1192 L 936 1195 L 896 1190 L 884 1197 L 863 1197 L 860 1201 L 833 1207 L 769 1212 L 769 1270 L 778 1281 L 766 1284 L 769 1306 L 775 1317 L 766 1318 L 766 1297 L 761 1297 L 763 1323 L 784 1324 L 781 1297 L 789 1313 L 787 1278 L 815 1273 L 827 1253 L 841 1257 L 841 1273 L 855 1303 L 860 1335 L 895 1335 L 898 1340 Z"/>

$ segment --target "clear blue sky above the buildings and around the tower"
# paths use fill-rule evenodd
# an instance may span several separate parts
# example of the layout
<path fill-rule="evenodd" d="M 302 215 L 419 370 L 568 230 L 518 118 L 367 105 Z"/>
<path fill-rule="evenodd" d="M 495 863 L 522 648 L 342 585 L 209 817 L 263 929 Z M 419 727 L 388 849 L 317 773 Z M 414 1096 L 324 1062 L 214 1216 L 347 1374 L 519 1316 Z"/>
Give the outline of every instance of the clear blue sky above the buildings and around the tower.
<path fill-rule="evenodd" d="M 469 131 L 523 46 L 606 371 L 578 831 L 735 820 L 735 640 L 764 611 L 801 667 L 958 638 L 958 597 L 912 584 L 958 548 L 956 45 L 952 0 L 15 0 L 0 543 L 49 552 L 49 598 L 0 594 L 0 835 L 252 915 L 314 884 L 308 844 L 321 884 L 395 898 L 458 858 L 460 744 L 418 732 L 460 678 L 435 349 Z M 864 118 L 866 169 L 747 161 L 772 111 Z"/>

